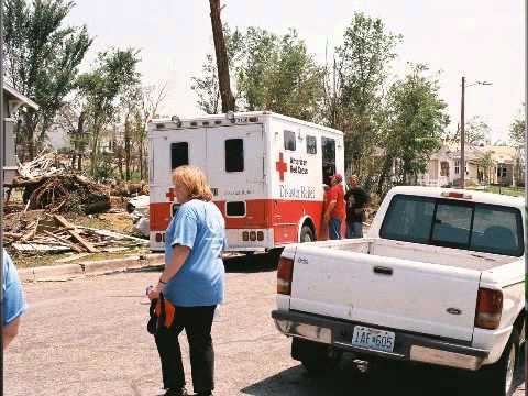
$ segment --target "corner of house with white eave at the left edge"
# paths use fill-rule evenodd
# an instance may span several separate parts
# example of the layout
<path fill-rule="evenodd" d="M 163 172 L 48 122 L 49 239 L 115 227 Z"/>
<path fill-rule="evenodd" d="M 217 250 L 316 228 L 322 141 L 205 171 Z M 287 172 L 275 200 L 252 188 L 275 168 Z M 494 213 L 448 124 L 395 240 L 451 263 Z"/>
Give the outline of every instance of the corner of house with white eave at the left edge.
<path fill-rule="evenodd" d="M 9 85 L 3 85 L 3 183 L 9 185 L 18 174 L 14 113 L 21 106 L 38 110 L 38 105 Z"/>

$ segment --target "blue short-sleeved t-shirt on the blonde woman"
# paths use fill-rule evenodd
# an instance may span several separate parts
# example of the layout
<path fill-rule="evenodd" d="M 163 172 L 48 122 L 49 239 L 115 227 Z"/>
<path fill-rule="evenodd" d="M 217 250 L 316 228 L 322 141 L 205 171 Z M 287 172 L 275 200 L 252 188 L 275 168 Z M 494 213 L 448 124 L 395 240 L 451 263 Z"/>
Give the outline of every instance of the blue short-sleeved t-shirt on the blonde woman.
<path fill-rule="evenodd" d="M 212 202 L 193 199 L 170 221 L 165 242 L 165 265 L 173 246 L 190 248 L 182 268 L 165 285 L 165 297 L 176 306 L 212 306 L 223 301 L 226 222 Z"/>

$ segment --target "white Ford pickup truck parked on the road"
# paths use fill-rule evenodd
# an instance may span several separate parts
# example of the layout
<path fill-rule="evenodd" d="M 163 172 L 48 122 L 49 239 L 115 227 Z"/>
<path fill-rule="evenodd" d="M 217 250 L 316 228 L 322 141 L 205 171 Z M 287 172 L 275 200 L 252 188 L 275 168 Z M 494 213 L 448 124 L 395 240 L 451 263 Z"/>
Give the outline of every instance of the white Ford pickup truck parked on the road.
<path fill-rule="evenodd" d="M 480 394 L 515 389 L 525 339 L 525 201 L 396 187 L 366 238 L 287 246 L 272 317 L 292 356 L 329 370 L 342 352 L 474 371 Z"/>

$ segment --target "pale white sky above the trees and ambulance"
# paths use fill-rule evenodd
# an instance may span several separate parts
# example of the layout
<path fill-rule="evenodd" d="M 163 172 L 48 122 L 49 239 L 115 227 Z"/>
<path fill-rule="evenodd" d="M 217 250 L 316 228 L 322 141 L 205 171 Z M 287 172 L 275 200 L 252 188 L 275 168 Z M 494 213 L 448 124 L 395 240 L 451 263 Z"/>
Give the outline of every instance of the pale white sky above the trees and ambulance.
<path fill-rule="evenodd" d="M 381 18 L 403 34 L 393 73 L 406 63 L 442 70 L 441 97 L 452 128 L 460 119 L 460 84 L 466 89 L 466 119 L 480 116 L 493 138 L 507 139 L 524 102 L 524 1 L 520 0 L 224 0 L 222 20 L 232 28 L 260 26 L 277 34 L 295 28 L 322 63 L 327 43 L 339 45 L 355 11 Z M 77 0 L 69 23 L 96 36 L 85 67 L 109 46 L 141 48 L 140 70 L 148 84 L 168 82 L 165 114 L 200 114 L 190 77 L 213 53 L 208 0 Z"/>

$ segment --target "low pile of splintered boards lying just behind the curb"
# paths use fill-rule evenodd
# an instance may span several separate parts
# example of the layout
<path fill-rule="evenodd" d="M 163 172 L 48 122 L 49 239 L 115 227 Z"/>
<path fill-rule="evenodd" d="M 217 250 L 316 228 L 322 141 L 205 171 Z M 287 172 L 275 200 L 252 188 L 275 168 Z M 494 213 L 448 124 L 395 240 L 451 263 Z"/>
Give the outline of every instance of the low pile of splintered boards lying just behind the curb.
<path fill-rule="evenodd" d="M 33 254 L 120 252 L 148 245 L 147 240 L 75 226 L 64 217 L 44 210 L 6 215 L 3 235 L 14 251 Z"/>

